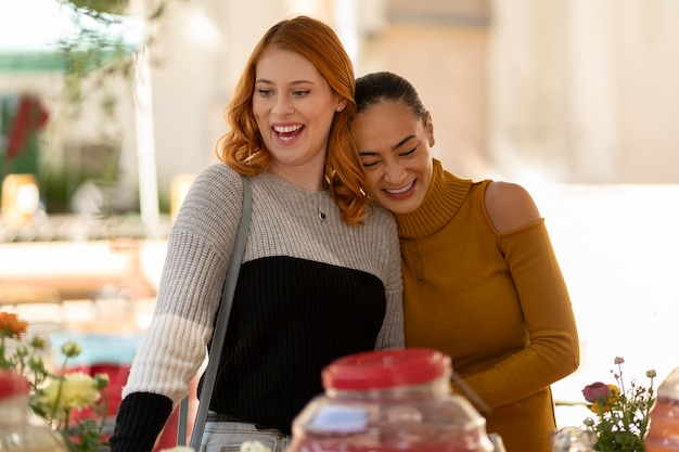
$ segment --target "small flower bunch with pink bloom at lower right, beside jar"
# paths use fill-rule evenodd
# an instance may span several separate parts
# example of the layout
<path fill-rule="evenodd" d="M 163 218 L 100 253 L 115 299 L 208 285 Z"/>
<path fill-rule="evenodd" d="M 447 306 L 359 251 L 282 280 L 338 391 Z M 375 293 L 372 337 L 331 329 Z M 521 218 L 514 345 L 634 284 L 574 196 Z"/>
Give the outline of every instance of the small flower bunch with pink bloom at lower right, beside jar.
<path fill-rule="evenodd" d="M 616 384 L 592 383 L 582 389 L 582 396 L 590 404 L 595 418 L 588 417 L 584 424 L 594 431 L 594 450 L 604 452 L 643 452 L 643 439 L 649 427 L 649 413 L 655 402 L 653 390 L 654 370 L 646 371 L 648 387 L 635 379 L 626 389 L 623 378 L 625 359 L 617 357 L 614 364 L 617 372 L 611 371 Z"/>

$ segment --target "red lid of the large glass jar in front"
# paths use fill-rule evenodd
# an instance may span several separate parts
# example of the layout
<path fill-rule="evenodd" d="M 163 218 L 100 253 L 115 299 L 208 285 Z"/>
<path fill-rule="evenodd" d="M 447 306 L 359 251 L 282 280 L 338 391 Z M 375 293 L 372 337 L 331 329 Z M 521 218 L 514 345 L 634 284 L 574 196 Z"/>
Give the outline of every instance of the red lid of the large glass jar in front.
<path fill-rule="evenodd" d="M 323 369 L 325 389 L 368 390 L 421 385 L 451 373 L 450 357 L 426 348 L 349 354 Z"/>

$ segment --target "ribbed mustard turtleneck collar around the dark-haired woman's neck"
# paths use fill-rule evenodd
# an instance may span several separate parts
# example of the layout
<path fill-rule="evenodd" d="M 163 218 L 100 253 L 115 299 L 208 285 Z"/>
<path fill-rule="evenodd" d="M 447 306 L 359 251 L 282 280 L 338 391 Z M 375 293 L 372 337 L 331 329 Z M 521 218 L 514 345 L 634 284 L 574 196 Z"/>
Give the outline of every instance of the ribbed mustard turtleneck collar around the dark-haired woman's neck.
<path fill-rule="evenodd" d="M 439 160 L 433 160 L 432 185 L 423 203 L 410 214 L 395 215 L 401 238 L 424 238 L 440 230 L 454 217 L 472 186 L 471 180 L 458 178 L 444 170 Z"/>

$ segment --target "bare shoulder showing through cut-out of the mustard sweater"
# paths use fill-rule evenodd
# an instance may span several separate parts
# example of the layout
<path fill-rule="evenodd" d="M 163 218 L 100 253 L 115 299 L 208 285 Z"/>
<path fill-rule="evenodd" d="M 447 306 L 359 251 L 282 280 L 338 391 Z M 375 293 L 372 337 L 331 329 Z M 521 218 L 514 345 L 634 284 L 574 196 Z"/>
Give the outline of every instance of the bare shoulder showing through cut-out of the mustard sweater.
<path fill-rule="evenodd" d="M 486 211 L 500 232 L 529 224 L 540 219 L 540 211 L 530 194 L 521 185 L 494 181 L 486 188 Z"/>

